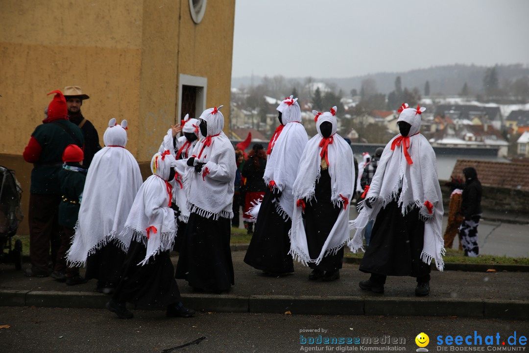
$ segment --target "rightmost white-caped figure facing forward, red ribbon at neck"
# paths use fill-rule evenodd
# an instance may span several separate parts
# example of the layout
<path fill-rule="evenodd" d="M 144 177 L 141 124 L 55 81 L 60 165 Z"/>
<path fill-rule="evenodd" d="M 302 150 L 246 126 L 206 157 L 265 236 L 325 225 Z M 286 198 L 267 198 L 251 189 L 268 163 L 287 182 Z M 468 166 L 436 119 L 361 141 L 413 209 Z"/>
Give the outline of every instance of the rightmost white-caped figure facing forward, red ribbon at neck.
<path fill-rule="evenodd" d="M 370 273 L 361 289 L 384 292 L 387 276 L 417 279 L 415 294 L 430 293 L 430 262 L 443 270 L 441 234 L 443 201 L 437 178 L 435 152 L 419 133 L 425 108 L 399 108 L 400 134 L 386 145 L 371 184 L 366 187 L 360 213 L 351 228 L 353 252 L 362 247 L 362 230 L 375 220 L 360 270 Z"/>

